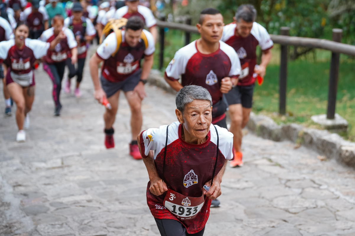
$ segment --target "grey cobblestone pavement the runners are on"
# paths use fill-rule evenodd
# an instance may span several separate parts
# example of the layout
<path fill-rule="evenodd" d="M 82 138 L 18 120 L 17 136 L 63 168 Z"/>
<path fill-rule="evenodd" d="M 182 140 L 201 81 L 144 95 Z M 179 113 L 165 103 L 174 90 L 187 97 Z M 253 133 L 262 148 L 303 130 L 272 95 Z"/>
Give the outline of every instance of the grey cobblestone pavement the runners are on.
<path fill-rule="evenodd" d="M 82 98 L 61 95 L 61 117 L 53 116 L 48 76 L 42 68 L 35 73 L 26 143 L 15 142 L 15 117 L 1 115 L 1 236 L 158 235 L 146 204 L 146 169 L 128 155 L 127 101 L 121 96 L 116 148 L 106 150 L 104 108 L 93 99 L 87 67 L 85 73 Z M 175 121 L 174 96 L 146 90 L 143 129 Z M 211 209 L 205 235 L 355 235 L 354 169 L 293 147 L 247 134 L 245 166 L 226 168 L 221 207 Z"/>

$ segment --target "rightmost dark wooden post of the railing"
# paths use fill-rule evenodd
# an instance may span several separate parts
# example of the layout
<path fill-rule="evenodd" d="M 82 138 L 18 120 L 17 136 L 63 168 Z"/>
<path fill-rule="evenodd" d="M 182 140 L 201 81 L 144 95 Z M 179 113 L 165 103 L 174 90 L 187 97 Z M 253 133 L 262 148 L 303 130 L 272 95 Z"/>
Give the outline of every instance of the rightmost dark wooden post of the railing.
<path fill-rule="evenodd" d="M 333 29 L 332 39 L 335 42 L 342 41 L 342 29 Z M 334 119 L 335 104 L 337 102 L 338 76 L 339 76 L 339 53 L 332 52 L 331 68 L 329 70 L 329 90 L 327 119 Z"/>

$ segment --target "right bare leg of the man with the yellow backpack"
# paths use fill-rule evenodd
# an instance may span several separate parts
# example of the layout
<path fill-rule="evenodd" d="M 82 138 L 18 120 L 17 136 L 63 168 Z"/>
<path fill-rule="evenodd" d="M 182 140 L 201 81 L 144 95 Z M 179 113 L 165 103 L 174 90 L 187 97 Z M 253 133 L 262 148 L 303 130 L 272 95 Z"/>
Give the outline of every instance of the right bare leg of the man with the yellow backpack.
<path fill-rule="evenodd" d="M 131 107 L 131 131 L 132 131 L 132 140 L 136 140 L 138 134 L 140 134 L 142 129 L 142 99 L 138 93 L 129 91 L 125 93 L 127 101 Z"/>

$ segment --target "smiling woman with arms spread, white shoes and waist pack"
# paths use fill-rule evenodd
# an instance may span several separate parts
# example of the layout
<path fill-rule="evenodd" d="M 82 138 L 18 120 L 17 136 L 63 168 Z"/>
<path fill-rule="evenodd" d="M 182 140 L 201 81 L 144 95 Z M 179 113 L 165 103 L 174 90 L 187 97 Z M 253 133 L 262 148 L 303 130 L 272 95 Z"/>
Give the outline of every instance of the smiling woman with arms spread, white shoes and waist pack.
<path fill-rule="evenodd" d="M 16 103 L 17 142 L 26 140 L 23 128 L 29 127 L 28 112 L 34 99 L 34 62 L 54 49 L 59 42 L 55 38 L 50 44 L 36 39 L 27 39 L 29 29 L 24 23 L 18 23 L 15 39 L 0 42 L 0 61 L 7 67 L 6 84 L 12 99 Z"/>

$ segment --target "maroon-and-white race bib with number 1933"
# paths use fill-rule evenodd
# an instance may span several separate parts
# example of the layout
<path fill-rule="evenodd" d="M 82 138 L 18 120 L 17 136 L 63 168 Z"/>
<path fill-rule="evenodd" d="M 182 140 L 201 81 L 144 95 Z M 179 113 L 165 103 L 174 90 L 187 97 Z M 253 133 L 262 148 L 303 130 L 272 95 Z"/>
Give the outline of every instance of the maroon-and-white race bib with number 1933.
<path fill-rule="evenodd" d="M 166 192 L 163 205 L 180 220 L 191 220 L 201 211 L 204 197 L 186 197 L 174 190 Z"/>

